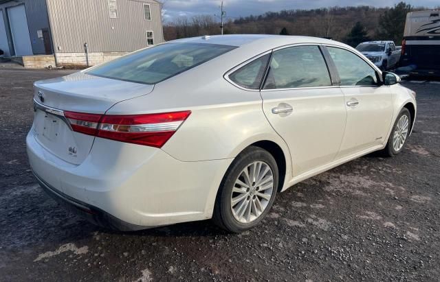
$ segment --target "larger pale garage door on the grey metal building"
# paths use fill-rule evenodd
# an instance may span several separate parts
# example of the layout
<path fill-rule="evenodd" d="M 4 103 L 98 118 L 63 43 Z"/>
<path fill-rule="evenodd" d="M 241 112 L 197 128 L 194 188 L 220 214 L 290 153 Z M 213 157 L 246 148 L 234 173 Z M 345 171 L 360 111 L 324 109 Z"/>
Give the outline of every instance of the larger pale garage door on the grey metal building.
<path fill-rule="evenodd" d="M 8 8 L 8 17 L 14 43 L 15 56 L 32 55 L 32 45 L 28 29 L 28 20 L 24 5 Z"/>

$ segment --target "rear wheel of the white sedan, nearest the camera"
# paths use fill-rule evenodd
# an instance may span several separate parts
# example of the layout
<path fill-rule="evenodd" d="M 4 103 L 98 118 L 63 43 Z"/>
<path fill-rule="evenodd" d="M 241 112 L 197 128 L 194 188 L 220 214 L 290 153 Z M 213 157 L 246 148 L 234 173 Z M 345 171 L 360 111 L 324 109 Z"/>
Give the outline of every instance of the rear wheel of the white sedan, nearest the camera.
<path fill-rule="evenodd" d="M 278 179 L 272 154 L 254 146 L 245 149 L 221 181 L 212 219 L 232 233 L 258 225 L 274 203 Z"/>

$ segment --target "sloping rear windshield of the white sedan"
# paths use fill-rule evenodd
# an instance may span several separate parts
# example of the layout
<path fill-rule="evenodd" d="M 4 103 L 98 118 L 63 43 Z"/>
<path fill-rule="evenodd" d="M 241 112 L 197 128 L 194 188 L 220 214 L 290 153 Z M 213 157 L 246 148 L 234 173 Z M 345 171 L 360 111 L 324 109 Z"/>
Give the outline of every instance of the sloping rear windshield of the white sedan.
<path fill-rule="evenodd" d="M 87 71 L 87 74 L 115 80 L 155 84 L 235 48 L 235 46 L 206 43 L 162 44 L 112 60 Z"/>

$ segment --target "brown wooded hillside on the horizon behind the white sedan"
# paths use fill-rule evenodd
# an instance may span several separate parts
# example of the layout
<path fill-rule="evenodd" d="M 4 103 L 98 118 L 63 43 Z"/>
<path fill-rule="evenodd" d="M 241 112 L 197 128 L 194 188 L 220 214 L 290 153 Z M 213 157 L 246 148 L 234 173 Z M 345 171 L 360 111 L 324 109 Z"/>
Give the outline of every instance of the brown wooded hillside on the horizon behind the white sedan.
<path fill-rule="evenodd" d="M 399 3 L 395 6 L 406 3 Z M 259 16 L 246 16 L 229 20 L 224 25 L 225 34 L 280 34 L 283 29 L 289 35 L 305 35 L 329 37 L 343 41 L 356 22 L 360 22 L 372 39 L 393 39 L 380 32 L 380 17 L 395 8 L 374 8 L 371 6 L 332 7 L 313 10 L 282 10 L 267 12 Z M 410 10 L 427 10 L 427 8 L 413 8 Z M 395 11 L 394 11 L 395 12 Z M 399 30 L 403 34 L 404 16 L 399 17 Z M 403 19 L 402 19 L 403 18 Z M 181 17 L 164 25 L 166 40 L 200 36 L 204 34 L 219 34 L 220 28 L 217 19 L 210 15 L 199 15 L 192 18 Z M 400 28 L 401 26 L 401 28 Z M 386 38 L 385 38 L 386 37 Z M 401 36 L 395 36 L 397 45 Z"/>

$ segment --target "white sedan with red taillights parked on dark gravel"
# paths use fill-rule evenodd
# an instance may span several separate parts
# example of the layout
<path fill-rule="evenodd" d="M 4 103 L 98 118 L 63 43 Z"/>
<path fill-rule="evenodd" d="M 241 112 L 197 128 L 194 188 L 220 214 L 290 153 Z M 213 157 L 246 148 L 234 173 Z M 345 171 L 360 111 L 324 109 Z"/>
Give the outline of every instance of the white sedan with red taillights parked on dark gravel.
<path fill-rule="evenodd" d="M 34 84 L 26 139 L 41 186 L 122 231 L 259 224 L 277 192 L 401 152 L 415 93 L 355 49 L 303 36 L 175 40 Z"/>

